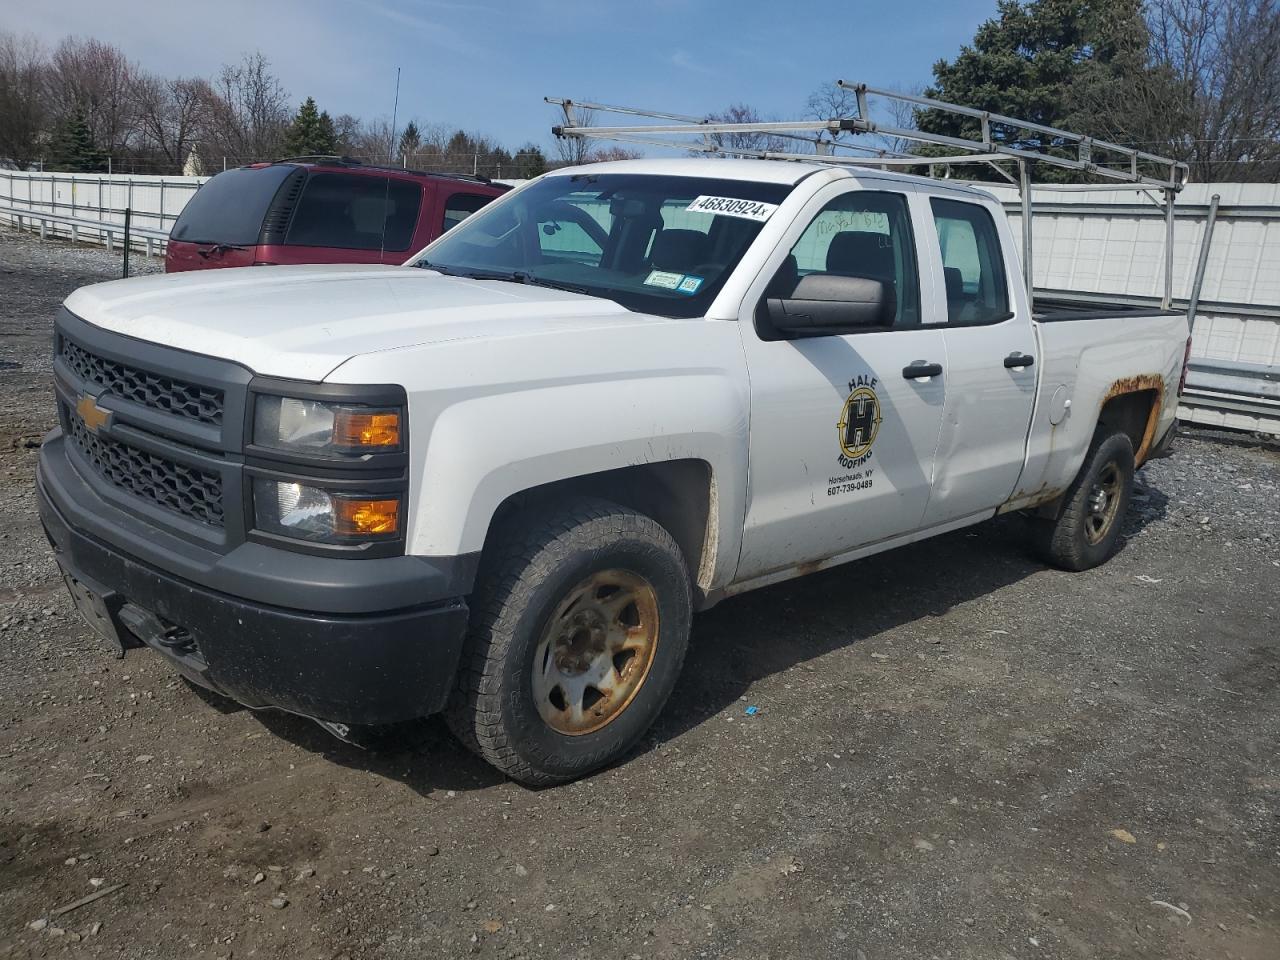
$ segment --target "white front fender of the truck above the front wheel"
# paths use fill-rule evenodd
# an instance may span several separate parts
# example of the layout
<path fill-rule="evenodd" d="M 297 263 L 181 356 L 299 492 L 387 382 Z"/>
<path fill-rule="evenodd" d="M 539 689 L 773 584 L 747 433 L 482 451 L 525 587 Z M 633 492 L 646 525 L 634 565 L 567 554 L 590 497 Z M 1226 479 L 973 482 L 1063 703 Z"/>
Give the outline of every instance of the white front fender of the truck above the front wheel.
<path fill-rule="evenodd" d="M 545 484 L 667 461 L 709 467 L 704 585 L 732 580 L 746 511 L 750 393 L 737 324 L 611 316 L 591 329 L 370 353 L 328 378 L 408 394 L 407 550 L 484 548 L 498 507 Z M 707 576 L 709 573 L 709 576 Z"/>

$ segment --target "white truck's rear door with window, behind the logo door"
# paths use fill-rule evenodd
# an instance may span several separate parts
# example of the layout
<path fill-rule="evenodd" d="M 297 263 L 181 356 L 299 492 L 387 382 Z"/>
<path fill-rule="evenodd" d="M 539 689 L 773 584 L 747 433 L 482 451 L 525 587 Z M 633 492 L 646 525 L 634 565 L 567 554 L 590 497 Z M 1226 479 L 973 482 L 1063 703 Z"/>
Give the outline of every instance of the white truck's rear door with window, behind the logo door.
<path fill-rule="evenodd" d="M 995 205 L 995 201 L 991 201 Z M 946 302 L 947 398 L 925 526 L 992 512 L 1014 492 L 1036 402 L 1036 335 L 998 207 L 929 197 L 924 255 Z M 1019 306 L 1023 305 L 1023 306 Z"/>

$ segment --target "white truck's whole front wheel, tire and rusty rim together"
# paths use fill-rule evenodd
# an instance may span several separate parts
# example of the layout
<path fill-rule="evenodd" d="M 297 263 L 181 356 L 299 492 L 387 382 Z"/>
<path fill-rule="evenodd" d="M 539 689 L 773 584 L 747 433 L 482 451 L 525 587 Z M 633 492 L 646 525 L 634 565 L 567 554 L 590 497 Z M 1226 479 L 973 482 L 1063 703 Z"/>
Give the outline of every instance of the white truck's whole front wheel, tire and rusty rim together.
<path fill-rule="evenodd" d="M 603 767 L 649 728 L 685 659 L 692 602 L 680 547 L 604 500 L 506 526 L 481 564 L 447 719 L 529 785 Z"/>

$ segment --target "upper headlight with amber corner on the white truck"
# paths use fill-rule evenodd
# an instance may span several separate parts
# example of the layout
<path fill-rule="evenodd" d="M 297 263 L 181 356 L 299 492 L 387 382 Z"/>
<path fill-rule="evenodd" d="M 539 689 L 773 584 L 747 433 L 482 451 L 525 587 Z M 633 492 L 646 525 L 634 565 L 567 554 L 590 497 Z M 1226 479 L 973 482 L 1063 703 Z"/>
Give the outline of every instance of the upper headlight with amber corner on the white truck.
<path fill-rule="evenodd" d="M 260 396 L 253 407 L 253 443 L 315 453 L 393 453 L 401 449 L 399 407 Z"/>

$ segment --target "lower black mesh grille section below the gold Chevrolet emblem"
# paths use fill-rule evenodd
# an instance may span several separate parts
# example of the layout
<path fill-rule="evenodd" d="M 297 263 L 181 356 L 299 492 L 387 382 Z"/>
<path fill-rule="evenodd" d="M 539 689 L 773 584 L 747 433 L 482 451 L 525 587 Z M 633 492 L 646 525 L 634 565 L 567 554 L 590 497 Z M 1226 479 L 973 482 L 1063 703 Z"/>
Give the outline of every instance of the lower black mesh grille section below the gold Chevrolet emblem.
<path fill-rule="evenodd" d="M 97 436 L 74 411 L 63 410 L 68 436 L 99 476 L 184 517 L 210 526 L 223 525 L 221 477 Z"/>

